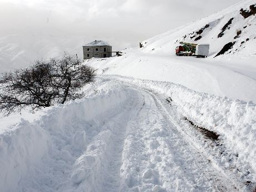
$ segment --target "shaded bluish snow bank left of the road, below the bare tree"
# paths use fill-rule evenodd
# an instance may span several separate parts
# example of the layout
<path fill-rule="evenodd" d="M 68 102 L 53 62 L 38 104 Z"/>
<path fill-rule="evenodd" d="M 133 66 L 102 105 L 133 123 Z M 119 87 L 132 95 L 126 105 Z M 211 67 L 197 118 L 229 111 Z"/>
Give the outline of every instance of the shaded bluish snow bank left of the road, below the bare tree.
<path fill-rule="evenodd" d="M 1 192 L 73 191 L 85 179 L 90 189 L 99 158 L 81 153 L 102 129 L 97 118 L 127 99 L 120 89 L 96 95 L 57 106 L 34 122 L 22 120 L 0 134 Z"/>

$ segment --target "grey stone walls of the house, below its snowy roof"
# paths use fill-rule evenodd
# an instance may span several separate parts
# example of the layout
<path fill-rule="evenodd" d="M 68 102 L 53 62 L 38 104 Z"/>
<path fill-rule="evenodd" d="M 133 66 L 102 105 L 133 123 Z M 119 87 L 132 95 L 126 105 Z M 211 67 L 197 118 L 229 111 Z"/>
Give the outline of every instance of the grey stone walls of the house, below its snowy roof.
<path fill-rule="evenodd" d="M 104 48 L 106 48 L 106 51 Z M 96 49 L 98 50 L 96 51 Z M 104 54 L 106 54 L 106 57 L 112 57 L 111 52 L 111 46 L 83 46 L 83 59 L 85 60 L 92 57 L 104 58 Z"/>

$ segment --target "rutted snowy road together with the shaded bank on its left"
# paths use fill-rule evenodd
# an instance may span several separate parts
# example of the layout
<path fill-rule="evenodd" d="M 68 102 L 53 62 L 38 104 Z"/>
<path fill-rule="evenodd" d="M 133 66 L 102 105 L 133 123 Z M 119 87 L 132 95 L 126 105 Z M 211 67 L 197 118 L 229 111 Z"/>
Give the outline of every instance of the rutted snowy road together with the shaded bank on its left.
<path fill-rule="evenodd" d="M 85 89 L 1 134 L 1 191 L 249 190 L 160 93 L 111 77 Z"/>

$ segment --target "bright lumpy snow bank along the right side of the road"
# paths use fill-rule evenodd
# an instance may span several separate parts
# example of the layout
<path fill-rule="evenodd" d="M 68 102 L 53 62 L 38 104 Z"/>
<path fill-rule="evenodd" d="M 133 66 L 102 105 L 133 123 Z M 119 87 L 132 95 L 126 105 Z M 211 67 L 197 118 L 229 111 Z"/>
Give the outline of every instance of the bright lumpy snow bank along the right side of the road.
<path fill-rule="evenodd" d="M 200 93 L 171 82 L 115 78 L 163 93 L 166 98 L 171 97 L 184 116 L 217 132 L 227 141 L 228 147 L 238 153 L 244 165 L 249 164 L 256 172 L 256 105 L 252 101 Z"/>

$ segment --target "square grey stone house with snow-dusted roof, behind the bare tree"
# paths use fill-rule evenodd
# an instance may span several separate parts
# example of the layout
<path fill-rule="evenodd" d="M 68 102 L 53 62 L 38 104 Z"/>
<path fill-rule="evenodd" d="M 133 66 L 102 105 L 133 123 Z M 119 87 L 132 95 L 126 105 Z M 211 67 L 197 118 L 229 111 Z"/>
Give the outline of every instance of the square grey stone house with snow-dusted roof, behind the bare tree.
<path fill-rule="evenodd" d="M 83 46 L 83 59 L 92 57 L 105 58 L 112 56 L 112 46 L 104 41 L 93 41 Z"/>

